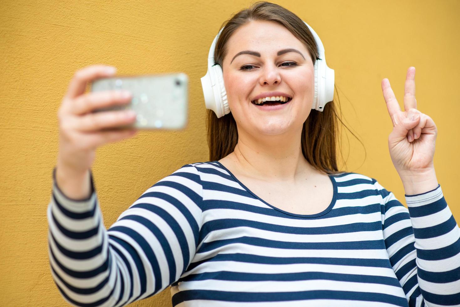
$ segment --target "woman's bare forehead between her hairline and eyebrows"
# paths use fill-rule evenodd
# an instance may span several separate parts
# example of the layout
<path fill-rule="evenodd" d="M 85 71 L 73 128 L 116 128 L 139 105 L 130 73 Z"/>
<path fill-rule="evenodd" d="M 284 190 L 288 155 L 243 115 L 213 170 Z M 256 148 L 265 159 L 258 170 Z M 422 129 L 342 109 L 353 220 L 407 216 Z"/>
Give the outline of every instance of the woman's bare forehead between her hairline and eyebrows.
<path fill-rule="evenodd" d="M 227 41 L 230 55 L 244 49 L 262 52 L 264 48 L 271 49 L 279 46 L 296 47 L 302 52 L 308 52 L 304 43 L 288 29 L 271 21 L 251 21 L 238 28 Z M 272 50 L 275 53 L 276 51 L 277 49 Z"/>

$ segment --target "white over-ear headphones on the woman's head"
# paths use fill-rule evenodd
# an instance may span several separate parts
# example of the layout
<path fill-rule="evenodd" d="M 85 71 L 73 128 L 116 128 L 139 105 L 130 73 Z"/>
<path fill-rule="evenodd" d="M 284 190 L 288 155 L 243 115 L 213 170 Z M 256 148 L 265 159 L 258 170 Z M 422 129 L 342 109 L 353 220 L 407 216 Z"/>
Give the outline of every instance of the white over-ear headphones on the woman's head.
<path fill-rule="evenodd" d="M 324 110 L 324 105 L 334 98 L 334 70 L 326 65 L 324 46 L 319 36 L 308 23 L 305 24 L 313 34 L 316 46 L 318 47 L 318 58 L 315 62 L 315 94 L 313 96 L 313 105 L 311 109 L 322 111 Z M 224 28 L 220 29 L 211 44 L 207 56 L 207 73 L 201 78 L 206 109 L 213 110 L 218 118 L 230 113 L 222 67 L 214 62 L 214 48 L 223 29 Z"/>

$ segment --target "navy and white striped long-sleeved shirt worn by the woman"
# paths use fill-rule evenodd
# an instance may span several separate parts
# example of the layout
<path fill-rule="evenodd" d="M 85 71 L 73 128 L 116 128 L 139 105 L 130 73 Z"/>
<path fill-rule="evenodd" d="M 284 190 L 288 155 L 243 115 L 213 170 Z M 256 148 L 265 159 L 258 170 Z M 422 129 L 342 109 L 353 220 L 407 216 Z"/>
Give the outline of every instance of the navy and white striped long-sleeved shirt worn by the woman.
<path fill-rule="evenodd" d="M 330 174 L 318 214 L 259 198 L 217 161 L 186 164 L 106 229 L 94 190 L 66 197 L 53 170 L 49 260 L 75 306 L 125 306 L 171 287 L 174 307 L 460 306 L 460 229 L 441 186 L 405 195 Z"/>

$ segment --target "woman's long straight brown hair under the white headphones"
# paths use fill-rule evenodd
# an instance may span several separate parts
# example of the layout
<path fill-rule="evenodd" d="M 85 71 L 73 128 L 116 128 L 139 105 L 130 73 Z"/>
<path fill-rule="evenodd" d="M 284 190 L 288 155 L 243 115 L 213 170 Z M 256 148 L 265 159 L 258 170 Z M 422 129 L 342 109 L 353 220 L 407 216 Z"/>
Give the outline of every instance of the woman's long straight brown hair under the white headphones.
<path fill-rule="evenodd" d="M 286 27 L 305 44 L 311 54 L 313 64 L 315 64 L 318 52 L 315 38 L 311 34 L 310 29 L 293 12 L 266 1 L 255 2 L 249 8 L 237 12 L 233 17 L 222 23 L 220 29 L 222 27 L 225 28 L 219 35 L 214 51 L 216 64 L 222 67 L 227 54 L 226 42 L 230 36 L 242 25 L 256 20 L 272 21 Z M 338 98 L 335 85 L 334 88 Z M 345 126 L 336 113 L 334 99 L 324 106 L 322 112 L 311 110 L 302 128 L 301 144 L 305 159 L 318 171 L 326 174 L 340 173 L 336 158 L 336 140 L 339 140 L 337 120 Z M 350 131 L 350 129 L 348 130 Z M 231 112 L 217 118 L 213 110 L 207 110 L 207 142 L 210 161 L 220 160 L 235 150 L 236 143 L 238 142 L 238 131 Z"/>

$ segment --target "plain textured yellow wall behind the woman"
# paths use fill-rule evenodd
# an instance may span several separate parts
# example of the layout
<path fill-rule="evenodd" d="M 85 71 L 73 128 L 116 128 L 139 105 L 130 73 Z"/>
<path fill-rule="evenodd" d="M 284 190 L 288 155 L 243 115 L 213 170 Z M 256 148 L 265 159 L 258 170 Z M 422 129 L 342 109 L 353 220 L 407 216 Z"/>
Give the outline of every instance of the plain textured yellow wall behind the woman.
<path fill-rule="evenodd" d="M 75 70 L 109 64 L 119 74 L 183 71 L 190 76 L 190 121 L 181 132 L 140 132 L 98 149 L 92 168 L 109 227 L 157 180 L 208 160 L 200 77 L 219 25 L 250 1 L 2 1 L 0 10 L 0 305 L 67 306 L 47 252 L 46 207 L 58 146 L 57 109 Z M 460 221 L 458 29 L 460 2 L 286 0 L 309 23 L 335 70 L 348 133 L 346 170 L 374 177 L 404 203 L 391 162 L 392 125 L 380 81 L 403 108 L 406 70 L 416 68 L 420 111 L 438 127 L 435 166 Z M 193 5 L 192 5 L 193 4 Z M 169 288 L 132 306 L 171 306 Z"/>

